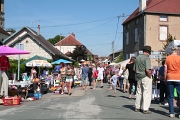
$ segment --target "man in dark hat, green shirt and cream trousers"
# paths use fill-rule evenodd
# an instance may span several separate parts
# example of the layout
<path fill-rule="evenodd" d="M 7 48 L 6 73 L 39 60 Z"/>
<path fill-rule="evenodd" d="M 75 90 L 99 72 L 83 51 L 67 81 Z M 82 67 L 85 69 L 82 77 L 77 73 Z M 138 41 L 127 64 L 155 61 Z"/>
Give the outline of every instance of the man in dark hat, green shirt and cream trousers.
<path fill-rule="evenodd" d="M 144 46 L 143 54 L 136 58 L 134 66 L 137 79 L 135 112 L 142 110 L 144 114 L 151 114 L 149 111 L 152 95 L 150 54 L 151 46 Z"/>

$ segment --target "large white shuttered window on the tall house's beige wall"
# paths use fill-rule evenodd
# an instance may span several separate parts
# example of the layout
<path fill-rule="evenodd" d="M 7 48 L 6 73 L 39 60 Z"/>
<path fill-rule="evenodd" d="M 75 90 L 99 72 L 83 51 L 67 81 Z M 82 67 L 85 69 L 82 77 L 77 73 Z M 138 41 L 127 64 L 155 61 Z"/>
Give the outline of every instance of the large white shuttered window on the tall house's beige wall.
<path fill-rule="evenodd" d="M 159 40 L 167 40 L 168 28 L 167 26 L 160 26 L 159 28 Z"/>

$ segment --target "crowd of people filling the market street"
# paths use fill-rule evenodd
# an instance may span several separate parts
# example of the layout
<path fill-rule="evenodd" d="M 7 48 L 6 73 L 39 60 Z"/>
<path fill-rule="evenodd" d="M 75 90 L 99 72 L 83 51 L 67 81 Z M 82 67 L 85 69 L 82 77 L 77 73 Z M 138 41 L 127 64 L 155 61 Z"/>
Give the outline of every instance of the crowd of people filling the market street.
<path fill-rule="evenodd" d="M 151 47 L 144 46 L 143 54 L 137 57 L 131 57 L 126 66 L 108 64 L 81 64 L 74 68 L 71 64 L 65 65 L 63 62 L 56 66 L 54 71 L 57 73 L 57 79 L 60 80 L 61 94 L 64 94 L 65 85 L 68 95 L 71 95 L 71 89 L 74 87 L 74 81 L 81 81 L 82 90 L 103 88 L 104 83 L 109 84 L 106 90 L 114 90 L 116 97 L 117 88 L 123 93 L 129 94 L 129 99 L 135 99 L 135 112 L 151 114 L 149 110 L 152 99 L 153 80 L 160 81 L 160 99 L 159 103 L 169 105 L 169 116 L 174 117 L 174 90 L 177 91 L 177 103 L 180 103 L 180 49 L 172 47 L 172 54 L 162 61 L 162 65 L 152 69 L 150 56 Z M 32 69 L 32 75 L 35 77 L 36 71 Z M 47 71 L 44 72 L 47 74 Z M 178 111 L 180 118 L 180 108 Z"/>

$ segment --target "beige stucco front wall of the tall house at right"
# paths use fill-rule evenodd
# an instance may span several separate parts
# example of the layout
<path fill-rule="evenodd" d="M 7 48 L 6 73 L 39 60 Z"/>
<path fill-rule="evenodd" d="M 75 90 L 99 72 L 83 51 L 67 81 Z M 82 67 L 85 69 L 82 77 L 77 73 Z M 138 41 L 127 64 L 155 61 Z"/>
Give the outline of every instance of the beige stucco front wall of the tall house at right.
<path fill-rule="evenodd" d="M 165 43 L 159 40 L 160 25 L 168 26 L 168 33 L 180 39 L 180 16 L 168 16 L 167 22 L 161 22 L 159 15 L 146 15 L 146 45 L 152 46 L 153 51 L 162 50 Z"/>

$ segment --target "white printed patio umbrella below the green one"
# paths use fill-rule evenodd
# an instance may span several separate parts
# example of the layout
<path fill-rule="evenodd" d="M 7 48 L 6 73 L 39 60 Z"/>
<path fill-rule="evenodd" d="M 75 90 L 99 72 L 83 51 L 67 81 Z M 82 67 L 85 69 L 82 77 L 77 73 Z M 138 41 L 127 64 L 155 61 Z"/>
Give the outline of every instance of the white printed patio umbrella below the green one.
<path fill-rule="evenodd" d="M 26 63 L 27 67 L 52 67 L 47 60 L 32 60 Z"/>

